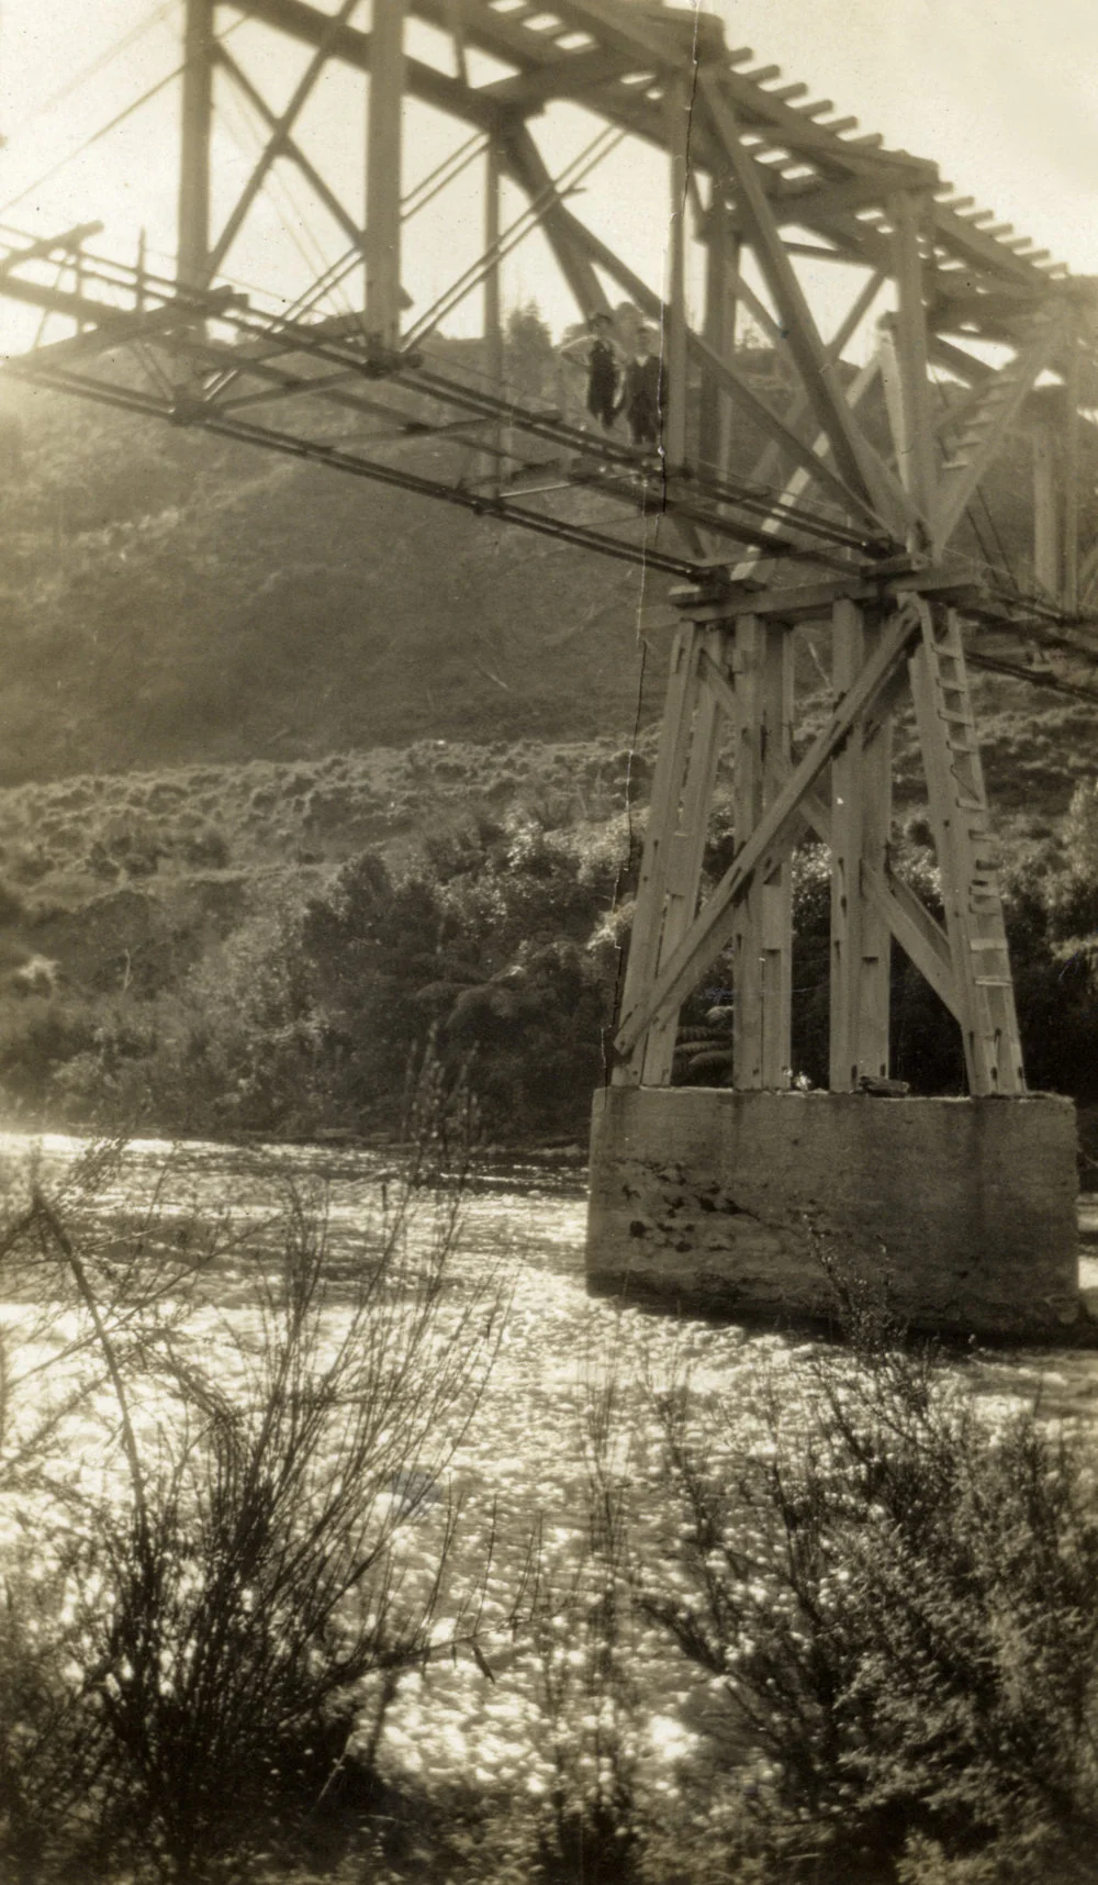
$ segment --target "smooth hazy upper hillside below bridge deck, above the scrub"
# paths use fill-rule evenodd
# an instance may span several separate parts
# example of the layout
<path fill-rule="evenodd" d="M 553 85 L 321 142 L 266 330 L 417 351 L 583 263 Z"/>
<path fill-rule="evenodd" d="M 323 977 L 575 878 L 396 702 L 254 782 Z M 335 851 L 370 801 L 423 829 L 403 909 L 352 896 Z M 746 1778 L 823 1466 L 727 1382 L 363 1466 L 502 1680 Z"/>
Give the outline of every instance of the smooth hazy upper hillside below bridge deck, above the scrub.
<path fill-rule="evenodd" d="M 637 718 L 629 566 L 24 386 L 4 420 L 4 784 Z"/>

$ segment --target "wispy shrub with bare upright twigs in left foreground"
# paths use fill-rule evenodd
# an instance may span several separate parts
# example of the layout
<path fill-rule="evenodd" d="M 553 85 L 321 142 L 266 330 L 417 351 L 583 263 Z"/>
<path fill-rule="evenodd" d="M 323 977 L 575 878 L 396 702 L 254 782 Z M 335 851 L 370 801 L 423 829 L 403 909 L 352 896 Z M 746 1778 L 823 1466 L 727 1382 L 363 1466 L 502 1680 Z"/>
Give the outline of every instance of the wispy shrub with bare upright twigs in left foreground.
<path fill-rule="evenodd" d="M 501 1299 L 492 1276 L 460 1301 L 446 1289 L 460 1195 L 428 1182 L 441 1152 L 426 1140 L 339 1250 L 322 1201 L 290 1193 L 237 1244 L 250 1316 L 192 1295 L 139 1342 L 98 1314 L 79 1231 L 36 1193 L 24 1233 L 83 1280 L 124 1470 L 96 1495 L 43 1497 L 36 1578 L 6 1566 L 13 1876 L 38 1879 L 51 1849 L 43 1876 L 128 1864 L 188 1885 L 296 1853 L 328 1862 L 377 1804 L 401 1676 L 475 1644 L 480 1566 L 452 1578 L 444 1476 Z M 58 1768 L 60 1838 L 57 1796 L 41 1813 Z"/>

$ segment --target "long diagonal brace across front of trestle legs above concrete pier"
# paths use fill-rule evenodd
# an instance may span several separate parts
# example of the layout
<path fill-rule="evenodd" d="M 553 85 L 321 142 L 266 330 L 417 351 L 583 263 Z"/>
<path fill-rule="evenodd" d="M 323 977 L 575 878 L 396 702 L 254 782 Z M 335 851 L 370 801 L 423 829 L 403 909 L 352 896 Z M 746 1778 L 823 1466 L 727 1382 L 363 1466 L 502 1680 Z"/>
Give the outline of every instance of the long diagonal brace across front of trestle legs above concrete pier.
<path fill-rule="evenodd" d="M 744 893 L 755 869 L 765 869 L 770 854 L 782 854 L 789 826 L 800 816 L 800 797 L 815 784 L 823 767 L 848 739 L 859 714 L 872 705 L 880 690 L 893 677 L 910 643 L 919 635 L 919 615 L 912 607 L 904 607 L 883 630 L 880 647 L 836 705 L 827 726 L 815 735 L 787 784 L 736 852 L 712 897 L 691 924 L 680 946 L 672 952 L 667 967 L 661 969 L 644 997 L 635 1005 L 623 1005 L 616 1041 L 620 1054 L 633 1050 L 652 1018 L 665 1007 L 680 1005 L 697 976 L 704 975 L 714 958 L 719 956 L 731 937 L 731 912 L 736 899 Z"/>

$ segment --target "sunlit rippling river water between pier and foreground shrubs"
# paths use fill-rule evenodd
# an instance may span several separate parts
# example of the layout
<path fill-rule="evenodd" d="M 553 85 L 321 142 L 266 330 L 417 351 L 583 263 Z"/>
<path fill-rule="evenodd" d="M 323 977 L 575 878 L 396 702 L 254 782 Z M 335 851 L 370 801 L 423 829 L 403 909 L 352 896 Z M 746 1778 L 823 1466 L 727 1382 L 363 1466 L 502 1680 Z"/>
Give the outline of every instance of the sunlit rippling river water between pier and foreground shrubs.
<path fill-rule="evenodd" d="M 0 1174 L 9 1197 L 26 1188 L 30 1161 L 47 1189 L 72 1180 L 87 1146 L 77 1139 L 0 1137 Z M 166 1240 L 181 1225 L 220 1220 L 232 1231 L 262 1225 L 284 1180 L 324 1197 L 333 1259 L 369 1248 L 379 1229 L 394 1159 L 375 1152 L 328 1148 L 241 1150 L 220 1144 L 132 1142 L 98 1186 L 77 1199 L 109 1231 L 153 1214 Z M 1098 1231 L 1096 1201 L 1085 1205 L 1087 1229 Z M 499 1576 L 518 1574 L 531 1527 L 541 1523 L 550 1563 L 567 1561 L 584 1527 L 584 1431 L 589 1387 L 614 1376 L 622 1384 L 623 1421 L 633 1446 L 629 1470 L 638 1483 L 642 1527 L 663 1521 L 655 1470 L 655 1436 L 646 1431 L 644 1382 L 689 1372 L 701 1393 L 736 1393 L 768 1367 L 785 1370 L 791 1393 L 804 1359 L 819 1342 L 782 1333 L 746 1331 L 689 1316 L 659 1316 L 584 1289 L 586 1195 L 574 1172 L 546 1174 L 512 1165 L 476 1176 L 465 1197 L 463 1233 L 452 1287 L 461 1295 L 486 1270 L 499 1270 L 510 1291 L 501 1353 L 475 1427 L 452 1468 L 475 1527 L 501 1533 Z M 156 1238 L 151 1238 L 151 1250 Z M 254 1246 L 220 1259 L 215 1310 L 247 1318 L 254 1301 Z M 1098 1278 L 1094 1278 L 1098 1280 Z M 6 1321 L 13 1306 L 0 1304 Z M 9 1333 L 15 1333 L 13 1329 Z M 949 1361 L 972 1389 L 1000 1404 L 1038 1402 L 1049 1416 L 1087 1419 L 1098 1399 L 1098 1355 L 1070 1350 L 972 1350 Z M 475 1533 L 475 1536 L 478 1536 Z M 501 1600 L 501 1608 L 505 1608 Z M 499 1668 L 512 1681 L 488 1687 L 476 1670 L 431 1672 L 426 1706 L 422 1681 L 407 1685 L 392 1717 L 392 1747 L 407 1766 L 493 1772 L 514 1778 L 529 1762 L 537 1706 L 535 1672 L 503 1640 Z M 667 1749 L 678 1742 L 667 1723 L 687 1700 L 689 1678 L 650 1646 L 652 1721 L 663 1723 Z M 525 1725 L 525 1727 L 524 1727 Z M 655 1730 L 654 1730 L 655 1732 Z M 524 1738 L 525 1736 L 525 1738 Z M 510 1762 L 510 1768 L 509 1768 Z"/>

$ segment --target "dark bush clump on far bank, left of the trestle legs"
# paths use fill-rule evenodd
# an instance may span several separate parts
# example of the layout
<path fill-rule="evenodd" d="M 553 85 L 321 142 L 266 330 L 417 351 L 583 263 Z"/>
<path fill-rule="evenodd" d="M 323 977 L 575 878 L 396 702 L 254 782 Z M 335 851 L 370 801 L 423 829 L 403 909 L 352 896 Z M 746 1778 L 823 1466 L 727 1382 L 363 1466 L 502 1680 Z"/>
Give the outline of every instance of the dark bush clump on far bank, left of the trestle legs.
<path fill-rule="evenodd" d="M 143 1052 L 104 1016 L 73 1039 L 75 1065 L 64 1037 L 43 1074 L 73 1105 L 179 1131 L 373 1131 L 392 1129 L 431 1037 L 490 1137 L 580 1135 L 612 975 L 588 944 L 610 893 L 606 846 L 535 822 L 458 824 L 401 875 L 363 852 L 322 893 L 256 905 L 177 995 L 145 1003 Z"/>

